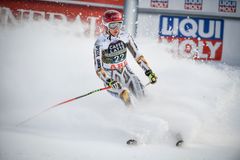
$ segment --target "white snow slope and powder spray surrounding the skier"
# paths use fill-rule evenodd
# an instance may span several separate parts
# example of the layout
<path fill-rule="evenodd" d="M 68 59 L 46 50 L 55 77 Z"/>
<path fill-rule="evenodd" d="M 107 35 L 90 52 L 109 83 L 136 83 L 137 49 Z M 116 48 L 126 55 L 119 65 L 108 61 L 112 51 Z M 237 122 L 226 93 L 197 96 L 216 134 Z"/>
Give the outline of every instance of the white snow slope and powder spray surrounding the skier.
<path fill-rule="evenodd" d="M 102 91 L 16 126 L 103 87 L 93 64 L 94 41 L 70 24 L 0 27 L 1 160 L 240 159 L 240 69 L 179 58 L 144 38 L 136 42 L 158 82 L 133 108 Z M 127 58 L 146 84 L 131 54 Z M 175 147 L 179 132 L 182 148 Z M 139 145 L 127 146 L 130 138 Z"/>

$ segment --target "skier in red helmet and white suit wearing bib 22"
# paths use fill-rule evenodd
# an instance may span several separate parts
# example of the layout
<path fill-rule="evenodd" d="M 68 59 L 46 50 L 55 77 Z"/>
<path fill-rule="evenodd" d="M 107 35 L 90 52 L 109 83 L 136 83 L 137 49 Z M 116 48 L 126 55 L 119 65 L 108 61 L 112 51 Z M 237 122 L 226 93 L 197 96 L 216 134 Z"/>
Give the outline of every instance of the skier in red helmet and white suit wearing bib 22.
<path fill-rule="evenodd" d="M 127 49 L 141 66 L 152 84 L 157 76 L 140 54 L 132 36 L 122 28 L 122 14 L 116 10 L 108 10 L 102 17 L 105 31 L 94 45 L 94 62 L 98 77 L 112 95 L 119 97 L 126 106 L 132 104 L 131 96 L 137 99 L 144 96 L 144 88 L 139 78 L 131 71 L 126 60 Z"/>

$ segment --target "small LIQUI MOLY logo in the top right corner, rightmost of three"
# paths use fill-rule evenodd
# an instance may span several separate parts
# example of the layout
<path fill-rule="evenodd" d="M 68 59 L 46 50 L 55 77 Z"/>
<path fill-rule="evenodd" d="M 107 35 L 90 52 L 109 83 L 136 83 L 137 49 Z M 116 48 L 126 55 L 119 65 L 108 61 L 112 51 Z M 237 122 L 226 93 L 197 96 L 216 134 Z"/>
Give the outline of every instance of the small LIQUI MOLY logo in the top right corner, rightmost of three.
<path fill-rule="evenodd" d="M 237 10 L 236 0 L 219 0 L 218 11 L 219 12 L 232 12 L 235 13 Z"/>

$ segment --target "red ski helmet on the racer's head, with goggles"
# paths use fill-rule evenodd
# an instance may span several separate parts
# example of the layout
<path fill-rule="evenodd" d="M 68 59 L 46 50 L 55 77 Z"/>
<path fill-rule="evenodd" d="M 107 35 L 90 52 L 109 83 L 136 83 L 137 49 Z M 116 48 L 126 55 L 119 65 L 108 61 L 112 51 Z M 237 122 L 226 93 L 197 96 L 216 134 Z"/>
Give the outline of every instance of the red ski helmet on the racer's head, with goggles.
<path fill-rule="evenodd" d="M 108 29 L 121 28 L 123 22 L 122 14 L 116 10 L 107 10 L 103 14 L 102 22 Z"/>

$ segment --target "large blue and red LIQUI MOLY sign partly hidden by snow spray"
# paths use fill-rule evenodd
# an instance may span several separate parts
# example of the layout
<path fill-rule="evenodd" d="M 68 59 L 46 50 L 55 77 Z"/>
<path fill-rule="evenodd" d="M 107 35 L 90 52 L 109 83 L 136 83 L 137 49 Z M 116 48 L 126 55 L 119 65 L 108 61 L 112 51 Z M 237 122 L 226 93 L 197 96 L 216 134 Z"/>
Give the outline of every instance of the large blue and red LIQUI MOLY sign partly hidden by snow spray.
<path fill-rule="evenodd" d="M 159 36 L 161 41 L 176 44 L 182 56 L 220 61 L 223 27 L 221 19 L 160 16 Z"/>

